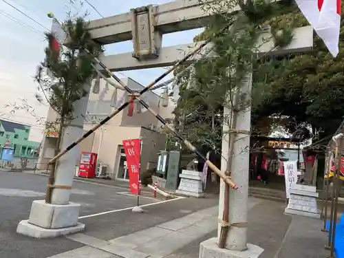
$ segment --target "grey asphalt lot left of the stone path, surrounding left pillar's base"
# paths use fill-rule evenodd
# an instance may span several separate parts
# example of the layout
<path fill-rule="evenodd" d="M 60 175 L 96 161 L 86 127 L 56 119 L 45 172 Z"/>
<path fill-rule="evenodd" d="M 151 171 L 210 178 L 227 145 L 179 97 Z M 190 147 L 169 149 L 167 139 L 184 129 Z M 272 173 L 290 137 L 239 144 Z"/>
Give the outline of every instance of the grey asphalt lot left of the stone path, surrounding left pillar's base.
<path fill-rule="evenodd" d="M 33 239 L 16 233 L 18 223 L 28 219 L 32 201 L 44 199 L 46 182 L 42 175 L 0 172 L 0 258 L 45 258 L 83 246 L 66 237 Z M 144 207 L 146 213 L 138 214 L 130 209 L 136 206 L 136 197 L 126 191 L 74 182 L 71 202 L 81 204 L 79 220 L 86 225 L 85 234 L 113 239 L 217 205 L 217 199 L 163 202 L 146 195 L 140 204 L 149 206 Z"/>

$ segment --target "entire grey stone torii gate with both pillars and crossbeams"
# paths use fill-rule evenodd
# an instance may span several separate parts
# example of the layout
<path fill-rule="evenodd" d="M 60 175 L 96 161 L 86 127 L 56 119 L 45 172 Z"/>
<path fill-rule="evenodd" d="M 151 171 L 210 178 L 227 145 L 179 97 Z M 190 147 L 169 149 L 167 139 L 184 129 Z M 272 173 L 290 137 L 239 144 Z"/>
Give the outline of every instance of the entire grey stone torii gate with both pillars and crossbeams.
<path fill-rule="evenodd" d="M 208 1 L 208 3 L 210 2 L 211 1 Z M 211 14 L 205 13 L 201 6 L 202 4 L 199 0 L 178 0 L 160 6 L 136 8 L 125 14 L 91 21 L 89 23 L 89 30 L 92 34 L 92 38 L 102 44 L 117 43 L 133 39 L 133 52 L 103 57 L 102 62 L 111 72 L 169 66 L 173 65 L 176 59 L 182 59 L 185 52 L 192 52 L 202 43 L 162 47 L 162 35 L 182 30 L 202 28 L 207 25 Z M 238 9 L 239 7 L 235 7 L 233 11 Z M 263 38 L 265 39 L 266 36 L 270 37 L 269 32 L 266 32 L 266 35 L 262 35 L 262 40 Z M 275 49 L 274 43 L 272 41 L 264 41 L 263 44 L 259 45 L 259 53 L 286 54 L 310 50 L 313 43 L 312 39 L 312 28 L 297 28 L 294 31 L 294 40 L 288 47 L 278 51 L 272 51 Z M 200 54 L 194 55 L 186 64 L 195 61 L 197 58 L 202 58 L 203 53 L 208 51 L 210 47 L 211 45 L 205 47 Z M 98 69 L 101 69 L 101 67 L 98 67 Z M 247 82 L 241 87 L 242 91 L 246 93 L 250 92 L 251 80 L 252 74 L 249 74 Z M 78 105 L 78 111 L 80 111 L 80 114 L 85 114 L 87 98 L 81 99 L 79 103 L 80 104 L 76 104 Z M 225 107 L 224 114 L 228 114 L 228 111 L 229 109 Z M 79 124 L 82 126 L 83 121 L 78 121 L 78 125 Z M 237 125 L 239 125 L 237 129 L 241 131 L 250 131 L 250 109 L 239 112 Z M 226 125 L 224 125 L 224 127 L 226 127 Z M 73 135 L 75 139 L 82 136 L 82 134 L 83 131 L 79 128 L 75 128 L 73 131 L 69 132 L 69 136 Z M 243 135 L 242 133 L 238 133 L 236 137 L 233 166 L 230 170 L 232 171 L 231 176 L 235 179 L 239 189 L 230 192 L 230 212 L 228 221 L 232 224 L 246 222 L 248 213 L 248 152 L 244 151 L 241 153 L 241 149 L 242 147 L 249 146 L 250 139 L 249 136 Z M 66 144 L 70 144 L 70 142 Z M 63 143 L 63 148 L 67 146 L 68 145 L 64 145 Z M 224 140 L 222 143 L 222 153 L 226 157 L 228 157 L 229 154 L 228 149 L 228 140 Z M 65 155 L 63 161 L 76 160 L 77 156 L 78 151 L 76 149 L 76 151 L 70 151 L 69 154 Z M 240 166 L 238 166 L 238 164 L 240 164 Z M 56 175 L 56 184 L 72 186 L 74 167 L 67 167 L 68 165 L 70 166 L 70 162 L 61 162 L 61 166 L 64 166 L 65 169 L 61 169 L 61 173 Z M 222 160 L 222 171 L 226 170 L 226 166 L 226 160 Z M 17 232 L 33 235 L 36 233 L 37 229 L 33 229 L 32 224 L 39 225 L 41 228 L 53 228 L 56 232 L 58 230 L 65 230 L 66 233 L 58 233 L 60 235 L 83 229 L 83 226 L 79 228 L 78 226 L 72 226 L 72 224 L 76 225 L 77 222 L 78 207 L 76 204 L 69 203 L 70 188 L 55 189 L 54 191 L 58 193 L 58 195 L 54 195 L 56 199 L 54 203 L 61 205 L 58 205 L 58 207 L 56 206 L 56 208 L 35 201 L 36 203 L 32 204 L 32 211 L 30 213 L 29 220 L 32 220 L 32 222 L 30 222 L 31 224 L 28 224 L 28 222 L 19 224 Z M 49 211 L 47 207 L 49 207 Z M 224 182 L 222 181 L 219 198 L 219 221 L 222 221 L 223 209 Z M 46 215 L 42 214 L 42 211 L 44 211 Z M 65 214 L 65 216 L 59 216 L 57 219 L 56 215 L 57 220 L 54 220 L 52 219 L 52 214 Z M 70 217 L 74 218 L 73 223 Z M 52 225 L 52 222 L 54 222 L 54 225 Z M 222 222 L 219 222 L 218 228 L 221 230 Z M 28 234 L 28 230 L 32 230 L 33 233 Z M 41 229 L 39 230 L 39 234 L 44 233 Z M 247 244 L 246 227 L 233 226 L 230 228 L 226 243 L 227 249 L 217 248 L 216 243 L 217 239 L 209 239 L 202 243 L 200 257 L 215 257 L 215 253 L 218 257 L 230 257 L 230 255 L 233 255 L 233 250 L 236 251 L 237 257 L 244 257 L 244 255 L 248 255 L 247 257 L 255 257 L 262 252 L 261 248 Z"/>

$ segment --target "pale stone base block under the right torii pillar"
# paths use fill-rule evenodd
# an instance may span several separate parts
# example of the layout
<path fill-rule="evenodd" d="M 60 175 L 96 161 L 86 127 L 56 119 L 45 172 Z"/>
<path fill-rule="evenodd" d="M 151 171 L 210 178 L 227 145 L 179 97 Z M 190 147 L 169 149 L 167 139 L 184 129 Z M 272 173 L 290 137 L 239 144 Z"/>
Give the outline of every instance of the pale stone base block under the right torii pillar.
<path fill-rule="evenodd" d="M 213 237 L 200 244 L 199 258 L 257 258 L 264 251 L 263 248 L 252 244 L 247 244 L 247 247 L 245 251 L 221 249 L 217 246 L 217 237 Z"/>

